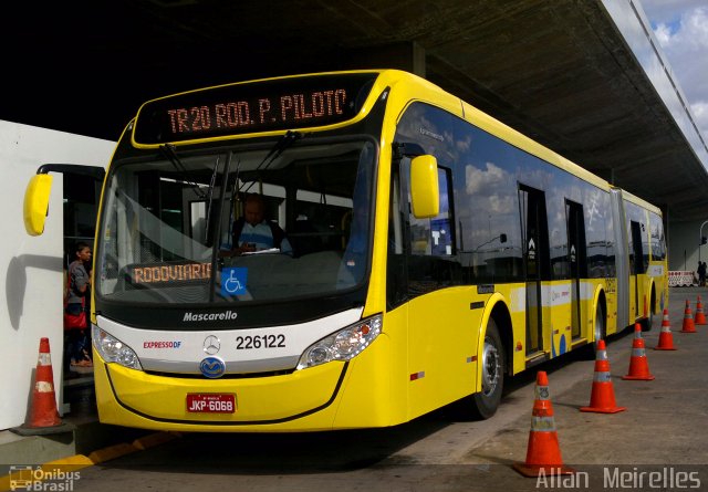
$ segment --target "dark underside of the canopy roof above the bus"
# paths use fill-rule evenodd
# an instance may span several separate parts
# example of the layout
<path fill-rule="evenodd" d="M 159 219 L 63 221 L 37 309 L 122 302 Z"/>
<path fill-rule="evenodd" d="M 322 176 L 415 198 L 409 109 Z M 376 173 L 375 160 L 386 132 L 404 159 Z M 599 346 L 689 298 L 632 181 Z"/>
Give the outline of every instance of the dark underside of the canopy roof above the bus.
<path fill-rule="evenodd" d="M 706 169 L 600 0 L 81 3 L 25 4 L 2 34 L 0 118 L 116 139 L 173 92 L 418 66 L 674 221 L 708 210 Z"/>

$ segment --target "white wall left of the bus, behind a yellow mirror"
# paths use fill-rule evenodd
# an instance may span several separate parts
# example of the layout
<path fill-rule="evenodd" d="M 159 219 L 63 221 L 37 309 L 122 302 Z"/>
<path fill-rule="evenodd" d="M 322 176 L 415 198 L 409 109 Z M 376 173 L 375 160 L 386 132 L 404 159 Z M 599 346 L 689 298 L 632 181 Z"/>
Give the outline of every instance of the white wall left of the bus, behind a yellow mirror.
<path fill-rule="evenodd" d="M 0 121 L 0 430 L 25 421 L 41 337 L 49 337 L 59 400 L 63 352 L 62 177 L 54 175 L 44 234 L 24 231 L 22 200 L 41 164 L 107 166 L 115 143 Z"/>

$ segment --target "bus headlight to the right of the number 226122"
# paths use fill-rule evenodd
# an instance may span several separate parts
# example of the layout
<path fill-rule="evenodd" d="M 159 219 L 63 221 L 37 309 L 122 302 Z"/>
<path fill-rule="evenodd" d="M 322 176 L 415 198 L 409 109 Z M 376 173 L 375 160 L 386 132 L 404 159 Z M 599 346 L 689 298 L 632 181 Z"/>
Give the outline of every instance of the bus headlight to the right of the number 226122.
<path fill-rule="evenodd" d="M 303 352 L 298 369 L 356 357 L 381 334 L 382 325 L 383 317 L 377 314 L 322 338 Z"/>

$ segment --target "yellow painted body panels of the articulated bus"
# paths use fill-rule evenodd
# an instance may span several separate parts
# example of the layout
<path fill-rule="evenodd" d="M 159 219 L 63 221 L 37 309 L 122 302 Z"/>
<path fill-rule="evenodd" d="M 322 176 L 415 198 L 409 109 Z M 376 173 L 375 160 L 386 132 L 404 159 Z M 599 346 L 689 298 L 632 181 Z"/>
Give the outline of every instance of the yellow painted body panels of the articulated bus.
<path fill-rule="evenodd" d="M 530 360 L 539 354 L 527 354 L 524 283 L 497 284 L 493 293 L 486 294 L 479 294 L 475 285 L 447 287 L 415 297 L 392 311 L 386 310 L 391 193 L 387 184 L 391 182 L 391 144 L 397 121 L 410 103 L 425 101 L 602 189 L 608 189 L 608 185 L 427 81 L 403 72 L 382 72 L 358 119 L 365 116 L 364 113 L 386 87 L 391 88 L 391 95 L 381 135 L 377 226 L 372 257 L 374 273 L 363 312 L 363 316 L 383 313 L 383 334 L 347 364 L 334 362 L 287 375 L 242 379 L 205 380 L 148 375 L 105 364 L 94 350 L 102 422 L 162 430 L 273 432 L 398 425 L 481 389 L 485 332 L 492 312 L 504 313 L 510 321 L 503 324 L 503 316 L 497 320 L 506 342 L 509 373 L 518 374 L 530 367 Z M 218 140 L 223 140 L 223 137 Z M 641 299 L 647 293 L 650 295 L 652 282 L 664 299 L 667 286 L 659 282 L 658 275 L 639 275 Z M 542 359 L 551 359 L 573 347 L 595 342 L 596 313 L 602 302 L 606 308 L 606 333 L 610 335 L 623 328 L 617 326 L 616 280 L 584 279 L 580 289 L 580 335 L 573 338 L 571 289 L 572 281 L 541 283 L 544 321 L 540 344 Z M 633 313 L 633 316 L 637 315 L 642 313 Z M 186 395 L 189 392 L 235 394 L 237 411 L 228 415 L 189 414 L 186 409 Z"/>

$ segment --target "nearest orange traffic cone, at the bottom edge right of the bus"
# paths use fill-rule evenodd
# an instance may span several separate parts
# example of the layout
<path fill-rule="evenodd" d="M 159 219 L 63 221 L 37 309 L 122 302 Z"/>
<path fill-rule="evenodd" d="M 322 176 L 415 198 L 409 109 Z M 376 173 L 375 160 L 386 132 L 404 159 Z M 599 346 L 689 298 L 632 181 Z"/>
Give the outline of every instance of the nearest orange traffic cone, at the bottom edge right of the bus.
<path fill-rule="evenodd" d="M 549 396 L 549 378 L 540 370 L 535 379 L 535 398 L 531 414 L 531 432 L 527 448 L 527 461 L 514 463 L 514 470 L 524 477 L 566 475 L 575 470 L 564 467 L 558 443 L 553 405 Z"/>

